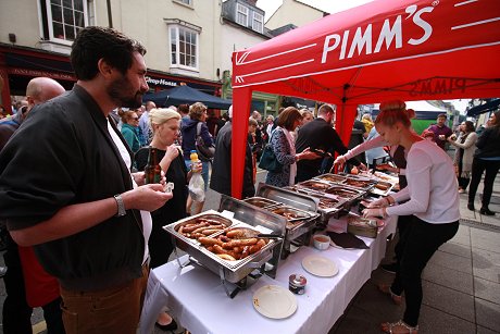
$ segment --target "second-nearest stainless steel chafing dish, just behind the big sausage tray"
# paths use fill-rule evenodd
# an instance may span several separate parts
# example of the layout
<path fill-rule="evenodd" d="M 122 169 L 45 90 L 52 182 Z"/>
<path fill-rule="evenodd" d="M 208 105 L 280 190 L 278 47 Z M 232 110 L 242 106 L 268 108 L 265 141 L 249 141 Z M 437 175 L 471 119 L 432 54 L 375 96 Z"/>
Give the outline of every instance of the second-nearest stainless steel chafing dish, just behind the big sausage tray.
<path fill-rule="evenodd" d="M 273 214 L 286 217 L 286 235 L 282 250 L 282 258 L 290 253 L 290 246 L 309 245 L 313 228 L 320 214 L 317 211 L 318 199 L 298 194 L 288 189 L 260 183 L 257 195 L 283 203 L 283 207 L 271 208 Z"/>

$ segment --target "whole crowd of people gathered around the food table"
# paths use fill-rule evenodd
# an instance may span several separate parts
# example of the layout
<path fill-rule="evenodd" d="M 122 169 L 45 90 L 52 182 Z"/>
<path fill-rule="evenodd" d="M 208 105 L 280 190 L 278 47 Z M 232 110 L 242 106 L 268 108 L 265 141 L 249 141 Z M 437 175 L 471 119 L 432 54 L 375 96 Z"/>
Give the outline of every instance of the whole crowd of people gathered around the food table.
<path fill-rule="evenodd" d="M 74 88 L 65 91 L 53 79 L 35 78 L 25 106 L 0 121 L 0 220 L 9 230 L 7 334 L 30 333 L 34 307 L 43 308 L 49 333 L 136 333 L 149 270 L 166 263 L 175 247 L 162 226 L 203 210 L 203 202 L 189 196 L 193 173 L 201 173 L 205 191 L 210 186 L 232 196 L 233 107 L 217 119 L 209 117 L 202 102 L 142 104 L 149 89 L 145 54 L 140 42 L 114 29 L 84 28 L 72 46 Z M 390 264 L 396 276 L 378 287 L 398 305 L 404 293 L 407 309 L 402 320 L 384 323 L 383 330 L 416 333 L 421 273 L 457 233 L 459 194 L 467 186 L 468 209 L 475 209 L 484 172 L 479 212 L 495 214 L 488 205 L 500 168 L 500 112 L 480 136 L 471 121 L 455 136 L 446 115 L 418 135 L 411 125 L 414 111 L 403 101 L 386 101 L 375 121 L 365 114 L 357 123 L 363 143 L 351 149 L 335 129 L 335 114 L 329 104 L 315 117 L 308 109 L 287 107 L 263 122 L 253 111 L 242 197 L 255 194 L 266 146 L 280 169 L 268 171 L 265 183 L 276 187 L 310 180 L 330 165 L 366 170 L 365 164 L 377 168 L 377 159 L 390 158 L 392 166 L 378 168 L 398 174 L 400 191 L 373 201 L 363 215 L 399 218 Z M 200 145 L 214 148 L 213 156 L 202 153 Z M 446 145 L 457 148 L 454 160 Z M 160 184 L 145 182 L 150 150 L 162 170 Z M 199 151 L 201 163 L 192 163 L 192 151 Z M 364 151 L 366 160 L 360 156 Z M 172 191 L 165 191 L 167 182 Z M 177 327 L 166 311 L 157 325 Z"/>

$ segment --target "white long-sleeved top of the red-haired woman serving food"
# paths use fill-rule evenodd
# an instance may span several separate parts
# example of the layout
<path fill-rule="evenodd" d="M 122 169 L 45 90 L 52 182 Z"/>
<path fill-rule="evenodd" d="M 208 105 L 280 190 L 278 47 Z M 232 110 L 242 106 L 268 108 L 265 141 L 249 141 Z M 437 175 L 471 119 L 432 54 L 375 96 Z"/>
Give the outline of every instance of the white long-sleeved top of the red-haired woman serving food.
<path fill-rule="evenodd" d="M 387 208 L 389 215 L 414 214 L 433 224 L 460 219 L 459 184 L 451 158 L 435 143 L 416 141 L 407 157 L 408 187 L 391 195 L 402 205 Z"/>

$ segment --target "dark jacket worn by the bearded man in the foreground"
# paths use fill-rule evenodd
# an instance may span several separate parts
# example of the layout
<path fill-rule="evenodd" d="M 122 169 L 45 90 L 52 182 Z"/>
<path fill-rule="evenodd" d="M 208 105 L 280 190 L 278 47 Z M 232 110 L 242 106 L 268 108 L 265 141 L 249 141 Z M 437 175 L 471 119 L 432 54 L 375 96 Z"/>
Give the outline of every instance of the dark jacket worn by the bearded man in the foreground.
<path fill-rule="evenodd" d="M 104 114 L 78 85 L 35 107 L 0 153 L 0 219 L 9 230 L 36 225 L 66 206 L 132 188 Z M 124 217 L 34 248 L 63 287 L 104 289 L 141 275 L 141 230 L 139 211 L 127 210 Z"/>

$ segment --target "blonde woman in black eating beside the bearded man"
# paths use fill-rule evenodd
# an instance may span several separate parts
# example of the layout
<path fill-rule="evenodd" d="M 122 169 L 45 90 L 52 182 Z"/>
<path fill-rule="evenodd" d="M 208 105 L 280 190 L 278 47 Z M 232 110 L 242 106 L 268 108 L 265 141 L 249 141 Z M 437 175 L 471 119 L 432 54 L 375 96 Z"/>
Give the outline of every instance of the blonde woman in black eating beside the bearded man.
<path fill-rule="evenodd" d="M 157 150 L 157 159 L 165 173 L 166 182 L 174 184 L 172 190 L 174 197 L 163 207 L 151 212 L 153 224 L 148 247 L 151 257 L 149 265 L 153 269 L 168 262 L 168 257 L 175 247 L 171 236 L 163 231 L 163 226 L 187 217 L 187 184 L 190 172 L 188 173 L 186 169 L 178 147 L 174 145 L 179 135 L 180 115 L 172 109 L 151 109 L 148 116 L 153 133 L 150 146 Z M 135 160 L 139 171 L 145 170 L 148 156 L 148 147 L 137 151 Z M 162 312 L 157 326 L 165 331 L 173 331 L 177 324 L 167 313 Z"/>

